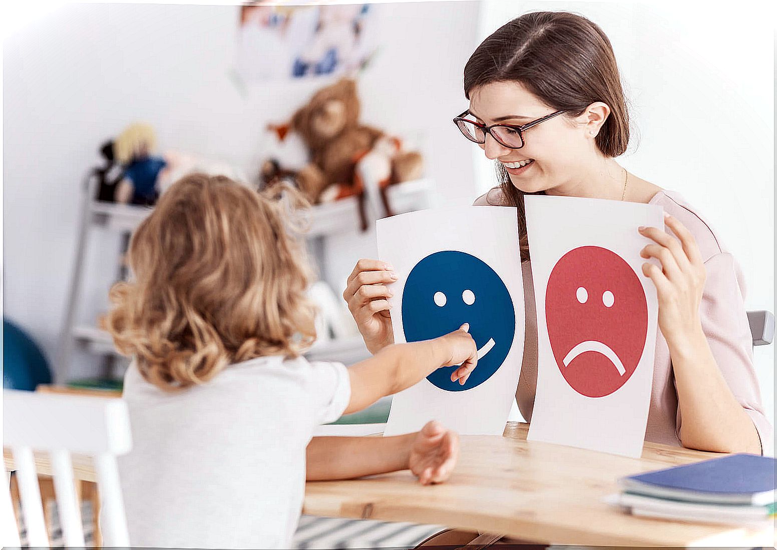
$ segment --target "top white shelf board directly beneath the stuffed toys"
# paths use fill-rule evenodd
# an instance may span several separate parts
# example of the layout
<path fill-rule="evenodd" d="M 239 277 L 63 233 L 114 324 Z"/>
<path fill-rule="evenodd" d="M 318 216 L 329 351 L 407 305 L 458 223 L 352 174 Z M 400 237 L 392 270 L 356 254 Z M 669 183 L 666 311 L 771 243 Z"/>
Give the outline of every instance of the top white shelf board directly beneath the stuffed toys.
<path fill-rule="evenodd" d="M 429 207 L 431 188 L 430 179 L 416 179 L 390 186 L 387 192 L 389 203 L 396 214 Z M 92 201 L 89 205 L 92 223 L 114 231 L 134 231 L 141 221 L 152 213 L 152 210 L 152 207 L 99 201 Z M 310 214 L 311 224 L 305 235 L 308 238 L 347 233 L 357 230 L 359 226 L 356 197 L 348 197 L 328 204 L 316 204 L 311 207 Z"/>

